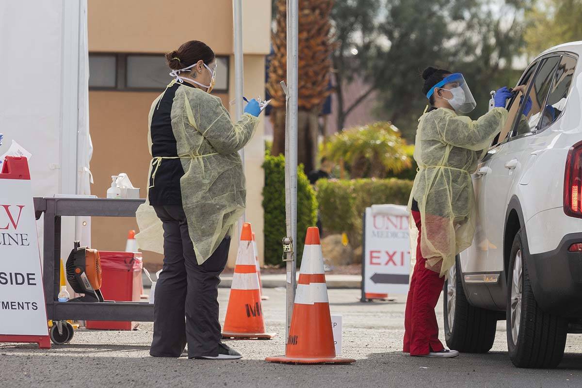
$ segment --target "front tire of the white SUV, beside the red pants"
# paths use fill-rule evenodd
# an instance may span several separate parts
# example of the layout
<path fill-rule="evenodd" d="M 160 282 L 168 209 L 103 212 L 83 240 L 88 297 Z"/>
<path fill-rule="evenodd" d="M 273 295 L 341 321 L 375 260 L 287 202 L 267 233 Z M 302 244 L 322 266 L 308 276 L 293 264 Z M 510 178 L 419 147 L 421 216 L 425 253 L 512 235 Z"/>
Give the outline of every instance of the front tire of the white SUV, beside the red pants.
<path fill-rule="evenodd" d="M 462 276 L 457 276 L 460 269 L 457 256 L 443 287 L 446 345 L 462 353 L 487 353 L 495 340 L 498 313 L 469 304 Z"/>

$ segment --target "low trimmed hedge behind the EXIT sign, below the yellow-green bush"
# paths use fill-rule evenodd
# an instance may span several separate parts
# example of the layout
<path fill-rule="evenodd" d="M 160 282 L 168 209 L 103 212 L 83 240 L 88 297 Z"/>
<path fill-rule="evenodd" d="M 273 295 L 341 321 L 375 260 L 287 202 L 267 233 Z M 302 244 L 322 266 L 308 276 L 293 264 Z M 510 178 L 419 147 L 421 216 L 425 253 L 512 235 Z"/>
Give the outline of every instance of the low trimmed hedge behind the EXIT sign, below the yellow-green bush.
<path fill-rule="evenodd" d="M 321 225 L 326 234 L 347 234 L 352 247 L 361 245 L 362 215 L 373 204 L 407 205 L 413 181 L 353 179 L 317 181 Z"/>

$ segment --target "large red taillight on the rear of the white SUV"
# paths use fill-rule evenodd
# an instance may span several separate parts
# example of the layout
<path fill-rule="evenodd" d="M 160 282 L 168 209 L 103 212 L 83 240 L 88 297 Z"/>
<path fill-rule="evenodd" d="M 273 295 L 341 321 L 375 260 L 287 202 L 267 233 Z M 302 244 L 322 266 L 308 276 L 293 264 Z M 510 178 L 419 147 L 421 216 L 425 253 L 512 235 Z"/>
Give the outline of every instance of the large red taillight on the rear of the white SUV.
<path fill-rule="evenodd" d="M 564 175 L 564 212 L 571 217 L 582 218 L 580 200 L 582 193 L 582 141 L 574 144 L 566 158 Z"/>

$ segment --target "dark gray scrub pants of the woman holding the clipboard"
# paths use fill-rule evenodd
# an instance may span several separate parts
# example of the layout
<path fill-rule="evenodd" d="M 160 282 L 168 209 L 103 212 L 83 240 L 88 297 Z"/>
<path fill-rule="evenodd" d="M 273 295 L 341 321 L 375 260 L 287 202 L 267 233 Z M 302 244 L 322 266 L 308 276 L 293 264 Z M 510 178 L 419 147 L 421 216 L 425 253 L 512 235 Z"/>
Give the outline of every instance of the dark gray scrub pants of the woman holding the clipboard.
<path fill-rule="evenodd" d="M 154 206 L 154 209 L 164 224 L 164 269 L 155 286 L 150 355 L 180 357 L 187 343 L 188 357 L 215 357 L 221 340 L 218 275 L 228 259 L 230 237 L 222 240 L 212 256 L 200 265 L 182 207 Z"/>

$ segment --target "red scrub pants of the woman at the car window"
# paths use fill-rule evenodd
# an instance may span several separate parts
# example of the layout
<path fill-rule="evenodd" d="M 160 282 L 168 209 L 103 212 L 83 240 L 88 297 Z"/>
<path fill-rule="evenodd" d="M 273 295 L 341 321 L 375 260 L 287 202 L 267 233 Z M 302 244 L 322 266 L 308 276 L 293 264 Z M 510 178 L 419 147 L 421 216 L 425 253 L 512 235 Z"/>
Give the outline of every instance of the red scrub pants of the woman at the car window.
<path fill-rule="evenodd" d="M 412 216 L 418 228 L 418 240 L 416 265 L 410 280 L 404 314 L 404 352 L 410 355 L 423 355 L 431 351 L 441 351 L 444 348 L 438 339 L 435 307 L 441 295 L 445 277 L 439 277 L 437 272 L 424 267 L 427 259 L 420 252 L 420 213 L 412 211 Z"/>

